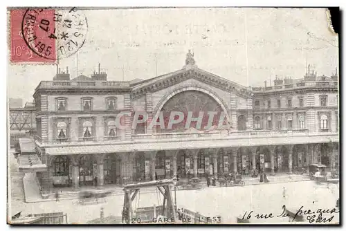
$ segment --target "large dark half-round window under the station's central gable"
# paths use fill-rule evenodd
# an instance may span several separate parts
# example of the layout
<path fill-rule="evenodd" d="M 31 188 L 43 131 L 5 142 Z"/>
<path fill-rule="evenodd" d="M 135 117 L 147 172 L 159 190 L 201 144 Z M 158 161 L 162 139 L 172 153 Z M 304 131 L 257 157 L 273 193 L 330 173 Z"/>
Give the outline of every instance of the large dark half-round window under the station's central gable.
<path fill-rule="evenodd" d="M 183 113 L 183 120 L 178 124 L 172 124 L 172 127 L 168 127 L 170 122 L 171 112 L 179 112 Z M 211 124 L 209 124 L 209 114 L 208 112 L 215 112 L 216 114 L 211 120 Z M 216 128 L 219 125 L 219 120 L 221 118 L 221 113 L 223 112 L 223 108 L 221 104 L 217 102 L 214 98 L 212 98 L 207 93 L 203 93 L 202 91 L 182 91 L 177 93 L 172 98 L 167 100 L 163 105 L 161 112 L 163 113 L 163 119 L 165 120 L 165 127 L 162 128 L 160 126 L 155 126 L 154 131 L 158 133 L 165 132 L 185 132 L 191 131 L 194 129 L 197 130 L 205 130 L 212 128 Z M 203 113 L 203 117 L 201 122 L 192 121 L 190 124 L 187 122 L 188 114 L 192 115 L 192 118 L 198 118 L 199 113 Z M 178 119 L 179 115 L 176 115 L 174 119 Z M 159 122 L 160 118 L 156 120 Z M 227 123 L 227 116 L 224 118 L 224 124 Z"/>

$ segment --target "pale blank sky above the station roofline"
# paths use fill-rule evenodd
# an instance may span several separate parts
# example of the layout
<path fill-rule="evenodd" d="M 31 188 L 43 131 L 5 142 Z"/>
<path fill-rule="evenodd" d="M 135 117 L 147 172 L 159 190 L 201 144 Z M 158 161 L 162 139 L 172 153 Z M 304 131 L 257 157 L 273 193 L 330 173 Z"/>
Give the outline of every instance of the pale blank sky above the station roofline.
<path fill-rule="evenodd" d="M 197 66 L 244 86 L 278 77 L 302 78 L 307 64 L 318 75 L 338 67 L 338 36 L 319 8 L 80 9 L 88 21 L 78 54 L 59 60 L 71 78 L 101 64 L 107 80 L 149 79 L 177 71 L 193 50 Z M 8 64 L 8 98 L 33 101 L 52 64 Z"/>

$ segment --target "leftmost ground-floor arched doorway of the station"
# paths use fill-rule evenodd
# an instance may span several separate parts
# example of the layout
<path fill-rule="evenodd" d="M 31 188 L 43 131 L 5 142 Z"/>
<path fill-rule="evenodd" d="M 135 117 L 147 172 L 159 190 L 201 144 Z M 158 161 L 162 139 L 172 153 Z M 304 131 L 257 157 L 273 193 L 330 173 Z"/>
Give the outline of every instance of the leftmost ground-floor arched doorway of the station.
<path fill-rule="evenodd" d="M 69 169 L 69 158 L 67 156 L 57 156 L 52 163 L 53 186 L 71 185 L 71 172 Z"/>

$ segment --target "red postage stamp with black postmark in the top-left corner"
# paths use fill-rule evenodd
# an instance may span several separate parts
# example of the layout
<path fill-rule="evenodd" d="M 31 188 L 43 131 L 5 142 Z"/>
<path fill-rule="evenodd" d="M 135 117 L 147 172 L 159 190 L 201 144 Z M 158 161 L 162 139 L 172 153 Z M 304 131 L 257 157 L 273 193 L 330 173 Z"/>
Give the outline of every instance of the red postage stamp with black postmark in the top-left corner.
<path fill-rule="evenodd" d="M 55 63 L 55 39 L 49 37 L 49 34 L 54 34 L 54 17 L 53 9 L 10 10 L 12 63 Z"/>

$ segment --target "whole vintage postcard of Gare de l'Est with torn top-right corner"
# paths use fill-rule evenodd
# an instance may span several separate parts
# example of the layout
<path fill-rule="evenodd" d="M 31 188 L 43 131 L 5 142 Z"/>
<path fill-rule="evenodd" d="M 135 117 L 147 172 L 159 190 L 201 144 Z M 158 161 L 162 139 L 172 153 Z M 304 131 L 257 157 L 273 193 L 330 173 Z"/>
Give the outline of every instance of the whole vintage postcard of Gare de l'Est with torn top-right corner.
<path fill-rule="evenodd" d="M 340 221 L 327 8 L 8 8 L 8 223 Z"/>

